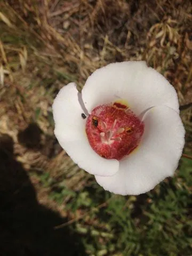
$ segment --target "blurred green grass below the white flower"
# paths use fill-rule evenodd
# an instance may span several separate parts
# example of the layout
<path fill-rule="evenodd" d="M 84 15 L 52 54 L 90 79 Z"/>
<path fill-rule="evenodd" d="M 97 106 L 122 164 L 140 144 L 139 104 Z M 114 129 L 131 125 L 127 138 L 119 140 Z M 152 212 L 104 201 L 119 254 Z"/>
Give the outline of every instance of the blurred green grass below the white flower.
<path fill-rule="evenodd" d="M 67 226 L 82 236 L 88 255 L 189 256 L 191 174 L 192 161 L 182 159 L 173 179 L 137 197 L 108 193 L 92 180 L 78 192 L 64 184 L 55 187 L 57 182 L 47 174 L 41 181 L 53 187 L 50 198 L 59 205 L 68 197 L 65 210 L 74 217 Z M 80 210 L 81 217 L 77 214 Z"/>

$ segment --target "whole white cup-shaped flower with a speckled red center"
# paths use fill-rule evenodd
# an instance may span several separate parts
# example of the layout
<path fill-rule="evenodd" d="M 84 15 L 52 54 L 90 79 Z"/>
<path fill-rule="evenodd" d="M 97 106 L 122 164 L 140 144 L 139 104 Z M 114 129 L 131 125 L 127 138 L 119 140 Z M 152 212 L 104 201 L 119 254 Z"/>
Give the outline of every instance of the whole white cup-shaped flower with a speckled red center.
<path fill-rule="evenodd" d="M 114 102 L 119 99 L 118 108 Z M 111 63 L 94 71 L 82 94 L 75 83 L 64 86 L 54 100 L 53 117 L 61 147 L 113 193 L 145 193 L 177 169 L 185 142 L 177 93 L 143 61 Z M 126 135 L 130 127 L 132 135 Z M 119 153 L 122 147 L 127 155 Z"/>

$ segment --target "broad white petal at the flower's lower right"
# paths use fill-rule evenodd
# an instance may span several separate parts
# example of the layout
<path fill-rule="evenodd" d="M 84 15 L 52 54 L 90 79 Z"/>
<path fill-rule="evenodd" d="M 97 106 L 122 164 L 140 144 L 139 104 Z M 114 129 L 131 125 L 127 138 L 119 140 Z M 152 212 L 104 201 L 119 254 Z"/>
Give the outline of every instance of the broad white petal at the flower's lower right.
<path fill-rule="evenodd" d="M 141 144 L 120 161 L 119 171 L 113 177 L 95 176 L 106 190 L 121 195 L 146 193 L 177 169 L 185 143 L 180 116 L 161 106 L 148 110 L 143 121 Z"/>

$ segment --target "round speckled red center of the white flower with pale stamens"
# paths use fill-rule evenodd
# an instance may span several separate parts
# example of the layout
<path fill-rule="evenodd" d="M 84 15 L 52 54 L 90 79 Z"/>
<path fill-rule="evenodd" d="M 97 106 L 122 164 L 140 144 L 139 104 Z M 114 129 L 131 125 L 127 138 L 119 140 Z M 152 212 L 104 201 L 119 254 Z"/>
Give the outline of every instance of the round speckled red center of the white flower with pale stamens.
<path fill-rule="evenodd" d="M 122 159 L 141 141 L 144 123 L 126 105 L 114 102 L 94 108 L 86 121 L 93 150 L 102 157 Z"/>

